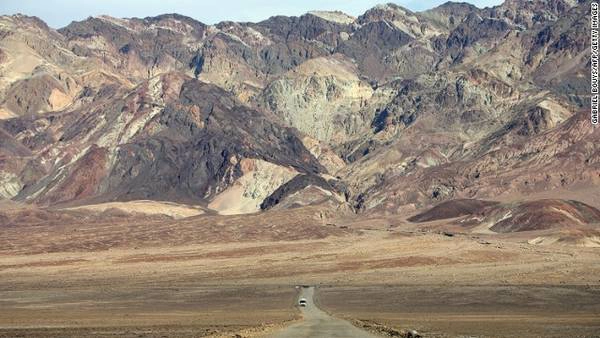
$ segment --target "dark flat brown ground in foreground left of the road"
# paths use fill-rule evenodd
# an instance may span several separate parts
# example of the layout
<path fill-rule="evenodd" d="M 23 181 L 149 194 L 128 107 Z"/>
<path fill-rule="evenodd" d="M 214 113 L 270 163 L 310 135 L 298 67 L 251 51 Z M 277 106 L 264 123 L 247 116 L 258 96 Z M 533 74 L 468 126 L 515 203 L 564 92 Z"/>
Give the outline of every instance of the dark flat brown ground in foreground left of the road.
<path fill-rule="evenodd" d="M 295 291 L 287 286 L 130 280 L 5 287 L 0 337 L 248 336 L 280 329 L 297 316 Z"/>

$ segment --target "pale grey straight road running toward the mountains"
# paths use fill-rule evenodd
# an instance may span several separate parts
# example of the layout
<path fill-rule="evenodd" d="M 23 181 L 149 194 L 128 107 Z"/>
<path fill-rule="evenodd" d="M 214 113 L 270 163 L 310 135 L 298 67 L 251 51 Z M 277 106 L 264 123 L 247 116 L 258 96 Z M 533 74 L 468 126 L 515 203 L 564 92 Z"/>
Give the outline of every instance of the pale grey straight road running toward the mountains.
<path fill-rule="evenodd" d="M 349 322 L 331 317 L 321 311 L 314 303 L 315 289 L 302 288 L 299 298 L 306 298 L 308 305 L 301 307 L 304 320 L 290 325 L 272 338 L 301 338 L 301 337 L 340 337 L 340 338 L 375 338 L 366 331 L 352 326 Z"/>

